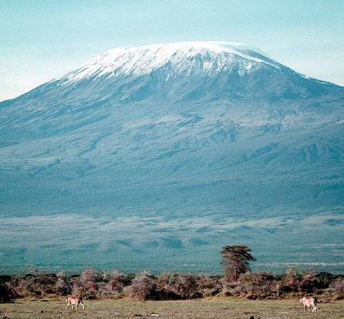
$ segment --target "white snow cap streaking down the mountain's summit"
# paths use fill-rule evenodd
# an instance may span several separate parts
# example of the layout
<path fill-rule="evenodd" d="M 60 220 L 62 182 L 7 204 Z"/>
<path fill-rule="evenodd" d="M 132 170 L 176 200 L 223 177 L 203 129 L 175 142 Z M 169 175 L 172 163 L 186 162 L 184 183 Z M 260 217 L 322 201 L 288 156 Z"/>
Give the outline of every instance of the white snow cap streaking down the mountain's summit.
<path fill-rule="evenodd" d="M 219 71 L 241 63 L 242 72 L 249 72 L 252 65 L 266 63 L 278 67 L 278 63 L 257 48 L 236 42 L 225 41 L 190 41 L 178 43 L 152 44 L 139 47 L 123 47 L 108 50 L 97 56 L 76 71 L 70 72 L 63 79 L 74 82 L 89 76 L 124 76 L 149 74 L 168 63 L 176 72 L 190 70 L 202 60 L 202 70 Z"/>

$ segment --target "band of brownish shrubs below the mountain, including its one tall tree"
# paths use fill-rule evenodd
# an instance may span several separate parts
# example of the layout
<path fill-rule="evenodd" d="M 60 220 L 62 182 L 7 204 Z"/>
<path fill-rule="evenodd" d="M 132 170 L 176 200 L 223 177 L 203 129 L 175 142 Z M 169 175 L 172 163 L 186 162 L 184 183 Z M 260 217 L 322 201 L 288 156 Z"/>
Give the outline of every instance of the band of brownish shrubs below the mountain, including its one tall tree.
<path fill-rule="evenodd" d="M 316 271 L 299 272 L 291 268 L 286 274 L 273 275 L 250 271 L 255 260 L 245 245 L 222 249 L 224 276 L 174 274 L 122 274 L 120 271 L 85 269 L 67 276 L 45 274 L 32 268 L 33 274 L 0 276 L 0 302 L 16 298 L 82 297 L 84 300 L 188 300 L 213 296 L 246 299 L 279 299 L 314 295 L 327 299 L 344 298 L 344 277 Z"/>

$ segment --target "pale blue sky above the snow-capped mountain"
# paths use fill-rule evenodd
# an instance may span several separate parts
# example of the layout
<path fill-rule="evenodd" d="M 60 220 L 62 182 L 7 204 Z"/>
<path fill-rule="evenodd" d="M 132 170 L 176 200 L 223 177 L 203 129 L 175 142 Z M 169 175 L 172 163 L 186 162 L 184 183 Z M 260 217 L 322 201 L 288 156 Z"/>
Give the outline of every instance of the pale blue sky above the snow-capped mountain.
<path fill-rule="evenodd" d="M 0 101 L 105 50 L 173 41 L 255 45 L 344 85 L 343 0 L 0 0 Z"/>

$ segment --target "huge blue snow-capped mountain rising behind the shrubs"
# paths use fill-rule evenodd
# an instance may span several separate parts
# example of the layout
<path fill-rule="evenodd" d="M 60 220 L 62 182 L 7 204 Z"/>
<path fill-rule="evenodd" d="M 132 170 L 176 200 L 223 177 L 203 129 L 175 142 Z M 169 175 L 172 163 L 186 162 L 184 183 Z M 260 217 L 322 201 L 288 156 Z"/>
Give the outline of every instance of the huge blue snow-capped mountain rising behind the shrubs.
<path fill-rule="evenodd" d="M 247 45 L 185 42 L 3 101 L 2 267 L 219 271 L 246 243 L 259 269 L 343 271 L 343 100 Z"/>

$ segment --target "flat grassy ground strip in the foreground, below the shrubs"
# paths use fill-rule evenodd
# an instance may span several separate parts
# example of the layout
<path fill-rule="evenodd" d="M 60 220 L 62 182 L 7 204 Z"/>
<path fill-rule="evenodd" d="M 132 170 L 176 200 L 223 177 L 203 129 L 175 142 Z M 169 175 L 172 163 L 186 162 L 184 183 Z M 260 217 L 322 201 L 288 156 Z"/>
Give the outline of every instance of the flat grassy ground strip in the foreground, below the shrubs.
<path fill-rule="evenodd" d="M 319 312 L 303 312 L 294 300 L 235 300 L 224 298 L 186 301 L 85 300 L 85 311 L 65 311 L 63 298 L 58 300 L 17 300 L 0 304 L 0 319 L 36 318 L 250 318 L 255 319 L 336 319 L 344 318 L 344 300 L 319 303 Z M 155 315 L 155 316 L 154 316 Z"/>

